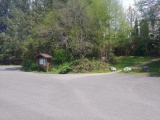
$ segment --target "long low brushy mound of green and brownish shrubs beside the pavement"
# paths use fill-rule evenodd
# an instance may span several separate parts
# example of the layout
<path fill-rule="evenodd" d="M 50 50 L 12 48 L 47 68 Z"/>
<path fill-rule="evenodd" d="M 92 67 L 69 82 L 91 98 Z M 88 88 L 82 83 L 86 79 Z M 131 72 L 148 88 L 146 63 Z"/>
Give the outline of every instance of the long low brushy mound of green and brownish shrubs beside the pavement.
<path fill-rule="evenodd" d="M 70 63 L 63 63 L 59 66 L 52 65 L 50 71 L 52 73 L 58 73 L 58 74 L 66 74 L 69 72 L 86 73 L 91 71 L 104 70 L 106 67 L 107 64 L 102 61 L 80 59 Z"/>

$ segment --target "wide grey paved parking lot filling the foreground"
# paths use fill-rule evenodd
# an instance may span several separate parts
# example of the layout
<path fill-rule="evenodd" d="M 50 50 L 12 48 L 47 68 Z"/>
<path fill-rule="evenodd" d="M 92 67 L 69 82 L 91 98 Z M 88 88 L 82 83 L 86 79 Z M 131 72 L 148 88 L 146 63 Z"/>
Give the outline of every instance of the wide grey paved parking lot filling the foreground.
<path fill-rule="evenodd" d="M 160 120 L 160 77 L 1 66 L 0 120 Z"/>

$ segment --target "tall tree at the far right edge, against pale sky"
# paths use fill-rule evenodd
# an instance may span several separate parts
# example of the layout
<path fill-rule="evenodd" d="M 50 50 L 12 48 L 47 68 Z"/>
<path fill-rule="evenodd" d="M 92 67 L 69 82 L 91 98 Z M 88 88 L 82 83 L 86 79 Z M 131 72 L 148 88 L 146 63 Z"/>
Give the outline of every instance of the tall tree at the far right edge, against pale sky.
<path fill-rule="evenodd" d="M 157 39 L 159 38 L 159 5 L 159 0 L 141 0 L 136 4 L 141 18 L 141 39 L 143 39 L 142 41 L 146 40 L 144 42 L 145 51 L 148 48 L 148 53 L 150 51 L 150 54 L 157 53 L 156 51 L 160 49 L 160 41 Z M 142 28 L 144 28 L 145 33 L 142 32 Z"/>

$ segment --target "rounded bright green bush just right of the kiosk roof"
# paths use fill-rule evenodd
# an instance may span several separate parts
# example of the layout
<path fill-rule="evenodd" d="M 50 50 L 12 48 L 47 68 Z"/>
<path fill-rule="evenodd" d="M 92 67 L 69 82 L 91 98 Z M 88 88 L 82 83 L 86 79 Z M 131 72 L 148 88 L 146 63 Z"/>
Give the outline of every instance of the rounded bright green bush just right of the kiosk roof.
<path fill-rule="evenodd" d="M 73 60 L 72 54 L 65 49 L 55 50 L 53 56 L 53 61 L 56 64 L 63 64 L 65 62 L 71 62 Z"/>

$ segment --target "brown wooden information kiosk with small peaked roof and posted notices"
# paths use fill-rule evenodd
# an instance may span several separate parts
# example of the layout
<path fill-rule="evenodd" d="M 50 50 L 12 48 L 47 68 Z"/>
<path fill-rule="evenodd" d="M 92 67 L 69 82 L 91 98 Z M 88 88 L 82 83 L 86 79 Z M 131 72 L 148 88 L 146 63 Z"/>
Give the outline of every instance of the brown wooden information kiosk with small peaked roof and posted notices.
<path fill-rule="evenodd" d="M 40 67 L 46 67 L 46 72 L 48 72 L 52 56 L 45 53 L 40 53 L 36 55 L 34 58 L 38 62 L 38 70 L 40 71 Z"/>

